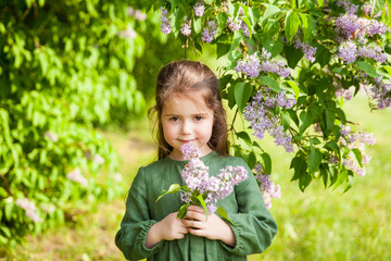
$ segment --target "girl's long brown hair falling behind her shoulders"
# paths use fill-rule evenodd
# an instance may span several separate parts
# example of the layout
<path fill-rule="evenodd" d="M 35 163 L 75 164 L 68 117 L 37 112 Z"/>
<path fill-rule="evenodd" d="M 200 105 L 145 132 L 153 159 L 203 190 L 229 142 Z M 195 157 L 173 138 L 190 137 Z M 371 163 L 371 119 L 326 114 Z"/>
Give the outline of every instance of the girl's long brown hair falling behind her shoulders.
<path fill-rule="evenodd" d="M 212 137 L 207 145 L 222 156 L 228 156 L 227 121 L 219 92 L 219 82 L 216 75 L 201 62 L 180 60 L 166 64 L 156 79 L 156 104 L 149 110 L 150 117 L 156 112 L 159 144 L 157 158 L 168 156 L 173 147 L 167 144 L 163 135 L 162 110 L 164 103 L 174 95 L 188 95 L 190 91 L 207 89 L 206 105 L 214 112 Z"/>

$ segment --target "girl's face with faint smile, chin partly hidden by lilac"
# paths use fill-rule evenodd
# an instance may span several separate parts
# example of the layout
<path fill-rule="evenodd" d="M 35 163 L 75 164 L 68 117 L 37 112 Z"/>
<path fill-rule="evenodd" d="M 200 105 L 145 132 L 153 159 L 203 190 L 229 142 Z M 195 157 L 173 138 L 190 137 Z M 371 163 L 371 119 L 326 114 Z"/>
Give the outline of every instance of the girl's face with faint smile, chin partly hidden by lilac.
<path fill-rule="evenodd" d="M 200 149 L 201 156 L 212 151 L 207 141 L 212 136 L 214 116 L 202 94 L 203 90 L 198 90 L 189 96 L 176 95 L 163 105 L 163 135 L 173 147 L 169 158 L 174 160 L 184 160 L 180 147 L 190 141 Z"/>

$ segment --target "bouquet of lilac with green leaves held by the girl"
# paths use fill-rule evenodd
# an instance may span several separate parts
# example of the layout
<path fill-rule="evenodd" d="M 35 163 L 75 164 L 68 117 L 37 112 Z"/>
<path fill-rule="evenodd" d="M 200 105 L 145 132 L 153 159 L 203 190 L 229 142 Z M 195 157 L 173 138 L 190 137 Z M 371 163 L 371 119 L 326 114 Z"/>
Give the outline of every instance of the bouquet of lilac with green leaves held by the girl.
<path fill-rule="evenodd" d="M 194 145 L 185 144 L 180 151 L 185 156 L 185 160 L 189 160 L 181 171 L 186 185 L 173 184 L 168 190 L 161 194 L 156 201 L 167 194 L 180 191 L 180 198 L 185 204 L 178 211 L 179 219 L 186 216 L 189 206 L 201 204 L 206 216 L 209 213 L 217 212 L 222 217 L 229 221 L 226 211 L 222 207 L 217 208 L 217 200 L 230 195 L 235 185 L 247 179 L 249 177 L 248 171 L 243 166 L 227 166 L 220 170 L 217 176 L 210 176 L 209 167 L 200 159 L 200 150 Z"/>

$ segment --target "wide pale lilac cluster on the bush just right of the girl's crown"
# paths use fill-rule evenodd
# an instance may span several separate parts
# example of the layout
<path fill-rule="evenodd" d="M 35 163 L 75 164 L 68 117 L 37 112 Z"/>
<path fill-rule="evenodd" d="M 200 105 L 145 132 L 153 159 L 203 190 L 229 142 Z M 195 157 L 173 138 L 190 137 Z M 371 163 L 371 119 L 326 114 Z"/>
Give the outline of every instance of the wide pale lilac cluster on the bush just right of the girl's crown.
<path fill-rule="evenodd" d="M 260 75 L 260 72 L 275 73 L 280 77 L 289 77 L 290 70 L 286 66 L 285 61 L 275 62 L 270 59 L 272 53 L 262 49 L 261 59 L 257 53 L 247 54 L 244 59 L 240 59 L 237 62 L 235 70 L 248 75 L 249 78 L 254 78 Z"/>

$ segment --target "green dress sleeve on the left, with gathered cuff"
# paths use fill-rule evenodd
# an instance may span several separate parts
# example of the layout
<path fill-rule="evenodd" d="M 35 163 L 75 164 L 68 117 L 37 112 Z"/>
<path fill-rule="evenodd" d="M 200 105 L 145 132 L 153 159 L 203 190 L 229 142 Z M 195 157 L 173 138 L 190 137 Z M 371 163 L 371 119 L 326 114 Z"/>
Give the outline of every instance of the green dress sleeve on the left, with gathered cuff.
<path fill-rule="evenodd" d="M 163 241 L 153 248 L 144 246 L 148 232 L 156 221 L 151 220 L 142 167 L 137 173 L 126 200 L 126 212 L 115 235 L 115 245 L 127 260 L 149 258 L 157 252 Z"/>

